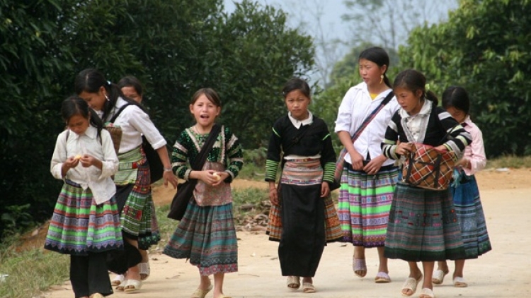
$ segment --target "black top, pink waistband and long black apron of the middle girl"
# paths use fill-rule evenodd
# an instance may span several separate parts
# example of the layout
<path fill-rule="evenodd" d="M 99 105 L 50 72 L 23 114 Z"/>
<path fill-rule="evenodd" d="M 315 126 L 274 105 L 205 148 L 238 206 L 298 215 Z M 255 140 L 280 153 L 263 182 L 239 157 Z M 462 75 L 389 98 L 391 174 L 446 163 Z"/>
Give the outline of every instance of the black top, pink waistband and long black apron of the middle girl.
<path fill-rule="evenodd" d="M 271 240 L 280 238 L 278 256 L 284 276 L 314 276 L 326 241 L 342 239 L 331 198 L 321 198 L 322 182 L 333 184 L 335 162 L 323 120 L 310 113 L 308 119 L 297 121 L 288 114 L 273 125 L 265 180 L 276 180 L 279 165 L 282 177 L 280 205 L 271 208 L 268 232 Z"/>

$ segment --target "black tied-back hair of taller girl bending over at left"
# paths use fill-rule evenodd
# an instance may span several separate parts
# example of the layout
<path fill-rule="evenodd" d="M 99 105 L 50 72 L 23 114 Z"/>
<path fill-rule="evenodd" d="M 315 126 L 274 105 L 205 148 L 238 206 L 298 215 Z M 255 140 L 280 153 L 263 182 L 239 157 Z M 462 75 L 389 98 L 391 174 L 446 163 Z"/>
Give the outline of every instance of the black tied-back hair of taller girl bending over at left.
<path fill-rule="evenodd" d="M 74 90 L 77 95 L 80 95 L 83 92 L 98 93 L 102 86 L 103 88 L 105 88 L 105 91 L 107 92 L 108 96 L 108 100 L 105 101 L 105 103 L 103 104 L 103 116 L 101 117 L 103 121 L 108 120 L 110 112 L 113 110 L 116 105 L 116 102 L 118 101 L 118 97 L 122 97 L 123 100 L 130 103 L 131 105 L 136 105 L 137 107 L 142 109 L 142 111 L 147 112 L 146 109 L 142 107 L 142 105 L 139 105 L 138 102 L 135 102 L 135 100 L 132 100 L 129 97 L 125 97 L 122 93 L 122 90 L 118 88 L 118 85 L 107 81 L 107 79 L 105 79 L 105 76 L 103 76 L 103 73 L 94 68 L 84 69 L 83 71 L 77 74 L 76 79 L 74 81 Z"/>

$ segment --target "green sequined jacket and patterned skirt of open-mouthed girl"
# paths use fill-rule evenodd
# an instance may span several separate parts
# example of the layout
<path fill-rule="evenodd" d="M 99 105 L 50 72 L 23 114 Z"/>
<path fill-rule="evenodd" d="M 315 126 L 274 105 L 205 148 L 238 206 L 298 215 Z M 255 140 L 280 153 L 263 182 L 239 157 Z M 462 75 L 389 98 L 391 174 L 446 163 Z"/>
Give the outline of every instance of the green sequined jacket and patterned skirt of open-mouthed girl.
<path fill-rule="evenodd" d="M 198 134 L 190 127 L 185 129 L 173 145 L 171 155 L 173 171 L 188 180 L 192 169 L 187 166 L 207 140 L 207 134 Z M 164 254 L 172 258 L 189 258 L 198 266 L 201 275 L 230 273 L 238 270 L 238 244 L 232 215 L 230 183 L 243 166 L 243 153 L 238 138 L 223 126 L 203 170 L 227 172 L 229 177 L 218 186 L 199 180 L 194 199 L 188 203 L 183 219 L 173 232 Z"/>

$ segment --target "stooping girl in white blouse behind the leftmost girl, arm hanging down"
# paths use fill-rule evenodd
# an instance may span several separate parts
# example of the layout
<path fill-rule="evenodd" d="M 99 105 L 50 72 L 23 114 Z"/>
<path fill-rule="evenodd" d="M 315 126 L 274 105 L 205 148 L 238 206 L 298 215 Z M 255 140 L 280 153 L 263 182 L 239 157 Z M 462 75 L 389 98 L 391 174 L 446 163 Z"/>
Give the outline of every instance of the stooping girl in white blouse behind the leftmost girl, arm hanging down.
<path fill-rule="evenodd" d="M 171 163 L 166 140 L 156 129 L 144 107 L 125 97 L 117 85 L 105 79 L 96 69 L 85 69 L 77 76 L 74 88 L 79 97 L 98 112 L 104 122 L 113 120 L 114 126 L 122 129 L 122 139 L 118 150 L 120 167 L 115 174 L 118 209 L 123 237 L 125 256 L 115 256 L 113 272 L 126 273 L 125 280 L 117 287 L 125 292 L 137 292 L 142 287 L 139 268 L 142 257 L 138 249 L 147 249 L 159 242 L 159 234 L 152 227 L 152 189 L 149 181 L 149 164 L 142 150 L 142 135 L 159 154 L 164 164 L 164 185 L 177 186 L 177 179 L 171 173 Z M 115 119 L 113 119 L 115 118 Z"/>

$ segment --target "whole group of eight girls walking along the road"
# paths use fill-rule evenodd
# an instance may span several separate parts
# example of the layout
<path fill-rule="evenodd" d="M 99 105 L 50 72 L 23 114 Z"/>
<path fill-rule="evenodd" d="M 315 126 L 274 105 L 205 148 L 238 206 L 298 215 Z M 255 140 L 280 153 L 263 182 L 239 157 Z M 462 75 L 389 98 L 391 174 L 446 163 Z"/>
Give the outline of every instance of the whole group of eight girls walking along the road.
<path fill-rule="evenodd" d="M 343 97 L 336 120 L 335 132 L 346 150 L 341 179 L 334 175 L 329 129 L 309 111 L 309 85 L 293 78 L 282 90 L 288 113 L 273 124 L 265 180 L 273 205 L 268 234 L 279 242 L 287 287 L 297 290 L 302 283 L 304 293 L 316 292 L 313 278 L 324 246 L 334 241 L 353 244 L 353 271 L 360 278 L 367 274 L 365 248 L 377 247 L 375 282 L 391 281 L 387 258 L 407 261 L 404 296 L 423 281 L 421 298 L 433 298 L 433 284 L 449 273 L 448 259 L 456 263 L 454 285 L 465 287 L 464 259 L 491 249 L 474 179 L 486 159 L 481 131 L 469 117 L 467 93 L 449 88 L 443 109 L 418 71 L 402 71 L 392 85 L 389 56 L 379 47 L 365 49 L 358 64 L 363 81 Z M 115 85 L 100 71 L 86 69 L 76 76 L 74 90 L 76 96 L 62 104 L 67 129 L 59 134 L 52 157 L 51 172 L 64 185 L 45 248 L 71 255 L 76 298 L 112 294 L 107 270 L 118 274 L 113 284 L 125 293 L 140 290 L 149 276 L 146 250 L 160 235 L 142 136 L 161 158 L 165 186 L 176 187 L 177 178 L 198 180 L 164 254 L 198 267 L 200 284 L 191 297 L 204 298 L 213 289 L 214 298 L 226 298 L 224 273 L 238 270 L 230 189 L 243 165 L 238 138 L 222 126 L 202 169 L 189 166 L 216 124 L 219 95 L 210 88 L 193 95 L 189 109 L 195 124 L 178 136 L 170 162 L 166 141 L 140 104 L 139 81 L 126 77 Z M 122 130 L 116 150 L 104 129 L 108 125 Z M 463 156 L 450 189 L 399 181 L 396 160 L 409 153 L 412 143 Z M 331 200 L 336 188 L 337 213 Z"/>

